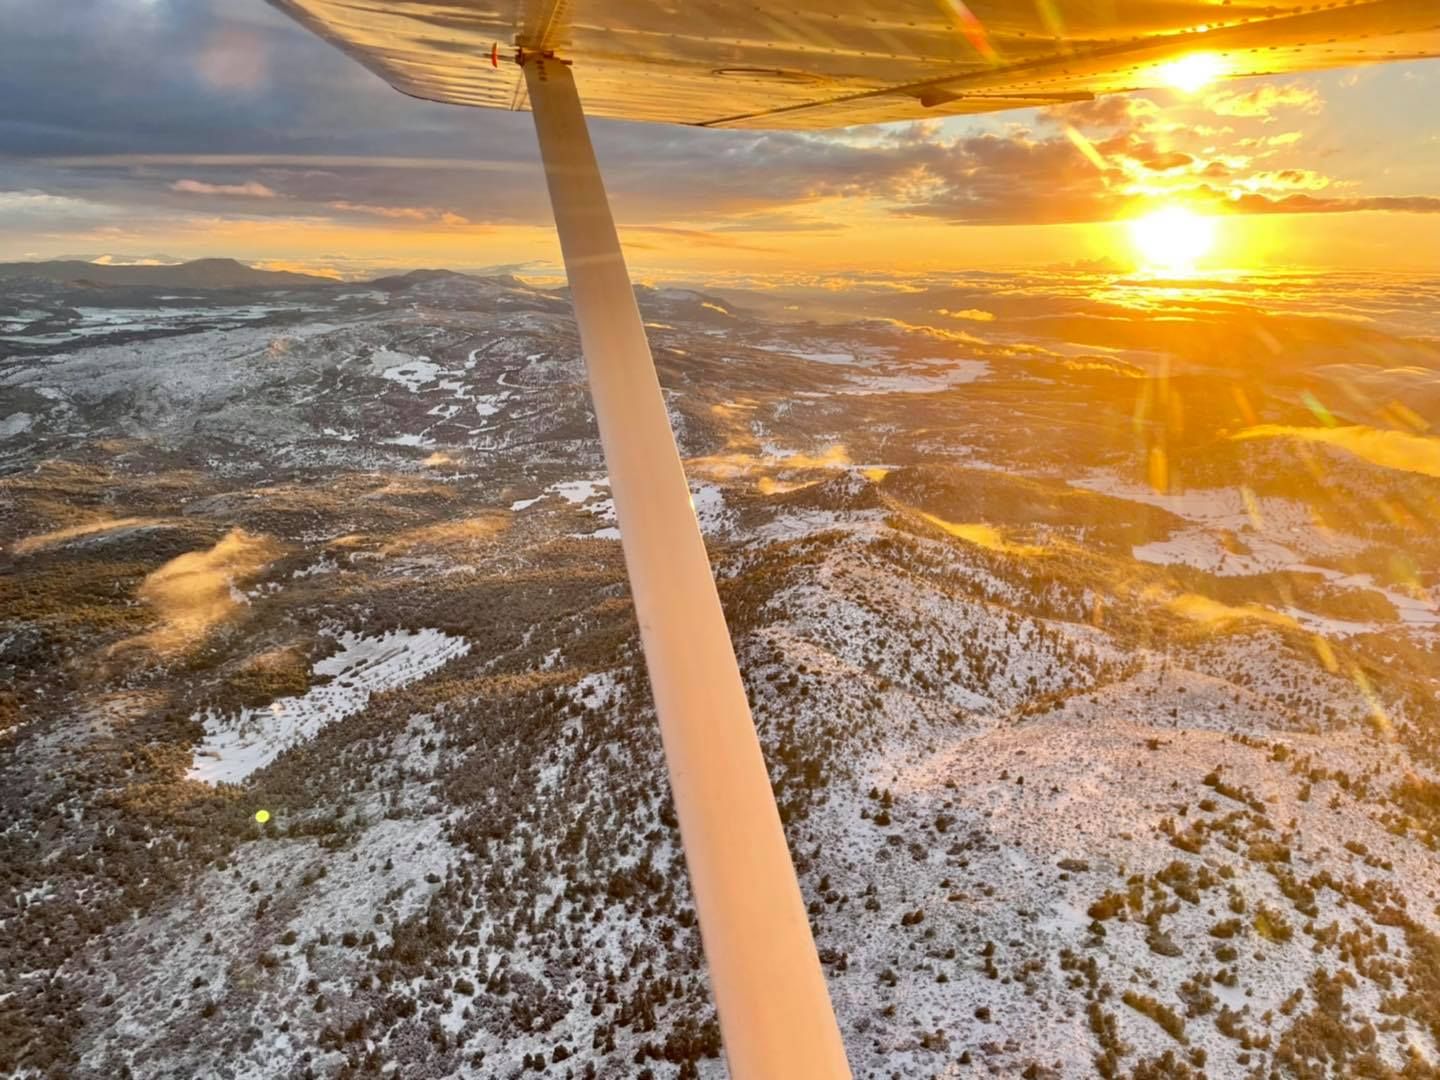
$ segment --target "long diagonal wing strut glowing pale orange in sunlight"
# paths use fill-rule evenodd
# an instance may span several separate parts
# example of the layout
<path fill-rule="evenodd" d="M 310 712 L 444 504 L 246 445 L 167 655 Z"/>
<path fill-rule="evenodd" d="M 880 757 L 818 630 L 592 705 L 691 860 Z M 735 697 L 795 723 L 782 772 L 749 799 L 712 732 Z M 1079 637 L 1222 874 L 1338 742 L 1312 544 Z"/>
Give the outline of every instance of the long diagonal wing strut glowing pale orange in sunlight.
<path fill-rule="evenodd" d="M 848 1077 L 575 79 L 523 65 L 730 1076 Z"/>

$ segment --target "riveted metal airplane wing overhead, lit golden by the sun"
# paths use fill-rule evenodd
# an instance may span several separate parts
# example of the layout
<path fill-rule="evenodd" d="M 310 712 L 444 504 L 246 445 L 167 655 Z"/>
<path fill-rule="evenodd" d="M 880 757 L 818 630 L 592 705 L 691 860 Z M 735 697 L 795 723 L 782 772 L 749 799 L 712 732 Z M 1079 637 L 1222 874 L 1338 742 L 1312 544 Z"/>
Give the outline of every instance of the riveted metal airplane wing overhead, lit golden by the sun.
<path fill-rule="evenodd" d="M 590 117 L 828 128 L 1440 56 L 1437 0 L 271 0 L 396 89 L 527 109 L 517 49 Z M 492 62 L 494 58 L 494 62 Z"/>

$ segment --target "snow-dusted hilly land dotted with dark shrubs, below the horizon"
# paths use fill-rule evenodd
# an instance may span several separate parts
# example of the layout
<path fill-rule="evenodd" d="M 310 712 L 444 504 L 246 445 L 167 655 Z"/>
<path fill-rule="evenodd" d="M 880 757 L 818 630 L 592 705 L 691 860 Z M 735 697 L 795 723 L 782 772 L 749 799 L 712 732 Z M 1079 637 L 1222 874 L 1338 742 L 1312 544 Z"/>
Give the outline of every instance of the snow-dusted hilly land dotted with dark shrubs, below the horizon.
<path fill-rule="evenodd" d="M 0 1071 L 723 1076 L 563 294 L 3 288 Z M 1440 360 L 1287 288 L 642 291 L 857 1076 L 1436 1074 L 1440 480 L 1293 432 Z"/>

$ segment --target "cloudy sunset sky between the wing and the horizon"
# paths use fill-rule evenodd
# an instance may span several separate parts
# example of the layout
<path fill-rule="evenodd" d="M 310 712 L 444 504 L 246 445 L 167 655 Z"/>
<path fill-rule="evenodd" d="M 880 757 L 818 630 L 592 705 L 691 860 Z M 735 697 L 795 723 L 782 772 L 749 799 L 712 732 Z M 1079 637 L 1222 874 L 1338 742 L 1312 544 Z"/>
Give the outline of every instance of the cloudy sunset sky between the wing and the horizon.
<path fill-rule="evenodd" d="M 261 0 L 0 0 L 0 261 L 364 276 L 559 265 L 530 117 L 416 101 Z M 595 121 L 636 276 L 1123 265 L 1431 271 L 1440 60 L 746 132 Z M 1152 228 L 1153 232 L 1153 228 Z M 1168 239 L 1162 233 L 1162 240 Z"/>

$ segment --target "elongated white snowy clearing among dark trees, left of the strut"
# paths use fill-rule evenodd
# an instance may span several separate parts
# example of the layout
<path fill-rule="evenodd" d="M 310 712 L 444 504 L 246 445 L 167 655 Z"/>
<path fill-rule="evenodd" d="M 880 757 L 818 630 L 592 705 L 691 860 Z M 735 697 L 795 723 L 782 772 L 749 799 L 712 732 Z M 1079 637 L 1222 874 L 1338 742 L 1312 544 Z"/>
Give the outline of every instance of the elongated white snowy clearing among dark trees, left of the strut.
<path fill-rule="evenodd" d="M 343 634 L 338 641 L 340 651 L 314 667 L 314 674 L 331 677 L 324 685 L 238 717 L 210 710 L 197 717 L 204 723 L 204 742 L 196 749 L 190 779 L 240 783 L 289 747 L 361 711 L 372 694 L 409 685 L 469 652 L 468 641 L 438 629 Z"/>

